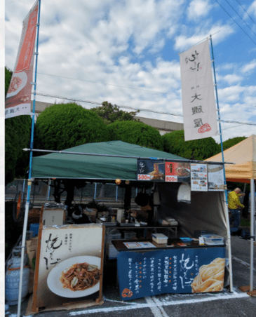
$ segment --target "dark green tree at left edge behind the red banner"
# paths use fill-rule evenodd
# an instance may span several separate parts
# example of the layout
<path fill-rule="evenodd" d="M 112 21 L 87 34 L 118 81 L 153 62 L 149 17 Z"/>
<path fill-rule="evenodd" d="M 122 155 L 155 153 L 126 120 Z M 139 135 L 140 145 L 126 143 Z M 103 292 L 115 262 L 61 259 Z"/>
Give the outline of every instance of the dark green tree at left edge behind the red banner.
<path fill-rule="evenodd" d="M 11 82 L 12 72 L 5 68 L 5 93 Z M 23 151 L 29 147 L 31 135 L 30 116 L 15 116 L 5 120 L 5 182 L 15 177 L 25 177 L 29 167 L 29 153 Z"/>

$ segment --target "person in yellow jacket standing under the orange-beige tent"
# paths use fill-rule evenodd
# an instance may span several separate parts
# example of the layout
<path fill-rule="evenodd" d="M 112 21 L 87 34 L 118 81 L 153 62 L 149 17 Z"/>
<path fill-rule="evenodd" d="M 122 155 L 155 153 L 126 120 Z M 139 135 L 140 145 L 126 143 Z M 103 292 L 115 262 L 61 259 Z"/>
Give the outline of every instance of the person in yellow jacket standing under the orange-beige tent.
<path fill-rule="evenodd" d="M 240 194 L 241 189 L 236 188 L 234 191 L 231 191 L 228 196 L 229 211 L 232 216 L 230 222 L 234 221 L 233 227 L 230 229 L 231 232 L 238 231 L 238 226 L 240 224 L 241 212 L 238 208 L 245 208 L 245 206 L 239 201 L 239 197 L 245 196 L 245 194 Z"/>

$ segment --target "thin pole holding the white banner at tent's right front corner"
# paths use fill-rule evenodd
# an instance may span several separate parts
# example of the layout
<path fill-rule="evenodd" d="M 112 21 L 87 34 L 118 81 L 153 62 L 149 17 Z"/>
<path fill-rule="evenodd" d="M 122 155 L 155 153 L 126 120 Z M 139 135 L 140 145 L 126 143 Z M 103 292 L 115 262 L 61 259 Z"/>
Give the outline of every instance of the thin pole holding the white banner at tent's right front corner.
<path fill-rule="evenodd" d="M 220 107 L 219 100 L 217 95 L 217 81 L 216 81 L 216 73 L 215 73 L 215 62 L 213 55 L 213 41 L 212 36 L 210 35 L 210 46 L 212 48 L 212 56 L 213 56 L 213 74 L 215 80 L 215 93 L 216 93 L 216 102 L 217 102 L 217 114 L 218 114 L 218 122 L 220 128 L 220 145 L 222 149 L 222 163 L 224 163 L 224 154 L 223 154 L 223 144 L 222 144 L 222 126 L 220 124 Z M 223 175 L 224 175 L 224 187 L 225 187 L 225 216 L 226 216 L 226 226 L 227 226 L 227 247 L 229 252 L 229 275 L 230 275 L 230 292 L 233 292 L 233 270 L 232 270 L 232 258 L 231 258 L 231 234 L 230 234 L 230 226 L 229 226 L 229 209 L 227 202 L 227 181 L 226 181 L 226 173 L 225 166 L 223 164 Z"/>

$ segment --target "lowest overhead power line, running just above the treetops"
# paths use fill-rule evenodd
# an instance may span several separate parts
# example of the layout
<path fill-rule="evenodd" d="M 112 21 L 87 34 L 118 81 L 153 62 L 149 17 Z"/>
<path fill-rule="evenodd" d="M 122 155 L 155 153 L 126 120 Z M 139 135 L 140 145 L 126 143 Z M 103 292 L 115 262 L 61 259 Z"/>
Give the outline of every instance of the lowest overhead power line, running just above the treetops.
<path fill-rule="evenodd" d="M 96 101 L 89 101 L 89 100 L 81 100 L 81 99 L 76 99 L 76 98 L 67 98 L 67 97 L 62 97 L 62 96 L 56 96 L 56 95 L 48 95 L 44 93 L 36 93 L 36 95 L 43 96 L 43 97 L 52 97 L 52 98 L 57 98 L 57 99 L 63 99 L 63 100 L 71 100 L 74 102 L 85 102 L 88 104 L 97 104 L 97 105 L 102 105 L 102 102 L 96 102 Z M 182 114 L 172 114 L 170 112 L 157 112 L 155 110 L 151 109 L 139 109 L 139 108 L 133 108 L 129 106 L 119 106 L 119 104 L 116 104 L 117 107 L 119 108 L 126 108 L 126 109 L 131 109 L 131 110 L 139 110 L 140 112 L 153 112 L 154 114 L 168 114 L 170 116 L 183 116 Z M 238 124 L 245 124 L 248 126 L 256 126 L 256 123 L 250 123 L 250 122 L 239 122 L 239 121 L 227 121 L 227 120 L 220 120 L 224 123 L 238 123 Z"/>

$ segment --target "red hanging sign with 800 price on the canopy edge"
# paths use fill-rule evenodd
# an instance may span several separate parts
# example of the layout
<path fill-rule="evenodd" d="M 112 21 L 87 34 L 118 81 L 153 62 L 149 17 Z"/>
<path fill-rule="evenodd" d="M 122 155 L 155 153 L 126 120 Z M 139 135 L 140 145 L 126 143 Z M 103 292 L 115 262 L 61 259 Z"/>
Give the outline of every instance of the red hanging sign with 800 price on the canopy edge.
<path fill-rule="evenodd" d="M 166 162 L 166 182 L 190 182 L 190 163 Z"/>

